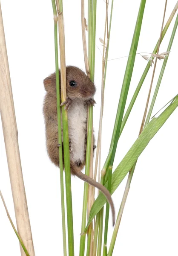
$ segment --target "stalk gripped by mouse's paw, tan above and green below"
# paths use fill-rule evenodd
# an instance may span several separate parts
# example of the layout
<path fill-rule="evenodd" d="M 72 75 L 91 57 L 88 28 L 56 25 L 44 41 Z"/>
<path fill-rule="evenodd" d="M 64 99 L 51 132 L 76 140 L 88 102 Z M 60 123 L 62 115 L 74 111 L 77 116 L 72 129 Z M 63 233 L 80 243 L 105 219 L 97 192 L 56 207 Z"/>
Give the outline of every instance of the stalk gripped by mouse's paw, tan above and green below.
<path fill-rule="evenodd" d="M 59 47 L 60 47 L 60 82 L 61 82 L 61 101 L 66 100 L 66 60 L 65 60 L 65 38 L 63 24 L 63 1 L 57 1 L 58 28 L 59 28 Z M 63 153 L 64 168 L 66 180 L 66 205 L 67 205 L 67 227 L 68 227 L 68 247 L 69 256 L 74 256 L 74 232 L 72 215 L 72 192 L 71 192 L 71 173 L 70 173 L 70 155 L 69 155 L 69 132 L 68 117 L 65 106 L 62 106 L 63 120 Z"/>

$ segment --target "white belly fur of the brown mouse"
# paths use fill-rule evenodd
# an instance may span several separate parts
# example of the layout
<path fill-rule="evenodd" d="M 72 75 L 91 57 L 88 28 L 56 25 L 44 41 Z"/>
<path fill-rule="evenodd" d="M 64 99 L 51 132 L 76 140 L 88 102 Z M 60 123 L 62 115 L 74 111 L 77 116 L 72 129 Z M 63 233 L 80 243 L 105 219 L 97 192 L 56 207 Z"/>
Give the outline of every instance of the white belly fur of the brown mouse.
<path fill-rule="evenodd" d="M 70 159 L 73 162 L 79 160 L 83 162 L 85 150 L 85 131 L 86 131 L 87 109 L 83 102 L 72 101 L 68 111 L 69 139 L 71 140 L 72 152 Z"/>

